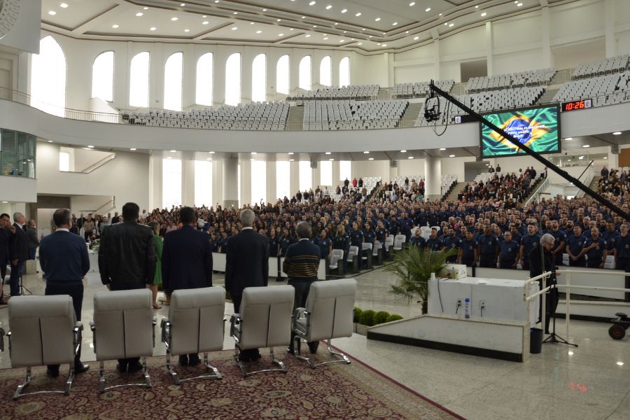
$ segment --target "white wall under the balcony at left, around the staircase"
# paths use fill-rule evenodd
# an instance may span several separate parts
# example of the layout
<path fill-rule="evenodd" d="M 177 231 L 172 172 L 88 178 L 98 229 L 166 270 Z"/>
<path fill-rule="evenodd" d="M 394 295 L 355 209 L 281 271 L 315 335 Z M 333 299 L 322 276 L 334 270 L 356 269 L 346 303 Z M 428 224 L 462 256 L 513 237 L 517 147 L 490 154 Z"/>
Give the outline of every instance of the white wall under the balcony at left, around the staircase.
<path fill-rule="evenodd" d="M 148 155 L 119 152 L 115 159 L 90 174 L 59 172 L 59 146 L 38 142 L 37 193 L 65 196 L 113 195 L 116 197 L 116 211 L 121 211 L 125 202 L 136 202 L 141 209 L 148 209 L 148 162 Z M 90 205 L 104 204 L 100 201 Z"/>

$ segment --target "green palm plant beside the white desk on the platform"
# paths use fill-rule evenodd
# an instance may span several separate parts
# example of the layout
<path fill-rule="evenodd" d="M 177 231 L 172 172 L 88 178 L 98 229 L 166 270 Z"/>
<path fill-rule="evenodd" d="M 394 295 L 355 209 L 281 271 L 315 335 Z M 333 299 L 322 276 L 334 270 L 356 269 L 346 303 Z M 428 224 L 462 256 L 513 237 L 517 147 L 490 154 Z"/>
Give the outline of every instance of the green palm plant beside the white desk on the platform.
<path fill-rule="evenodd" d="M 456 255 L 454 248 L 442 251 L 420 249 L 407 246 L 393 256 L 393 262 L 385 267 L 385 272 L 393 274 L 396 283 L 391 285 L 389 294 L 407 302 L 422 302 L 422 313 L 427 313 L 428 279 L 431 273 L 438 273 L 447 264 L 447 258 Z"/>

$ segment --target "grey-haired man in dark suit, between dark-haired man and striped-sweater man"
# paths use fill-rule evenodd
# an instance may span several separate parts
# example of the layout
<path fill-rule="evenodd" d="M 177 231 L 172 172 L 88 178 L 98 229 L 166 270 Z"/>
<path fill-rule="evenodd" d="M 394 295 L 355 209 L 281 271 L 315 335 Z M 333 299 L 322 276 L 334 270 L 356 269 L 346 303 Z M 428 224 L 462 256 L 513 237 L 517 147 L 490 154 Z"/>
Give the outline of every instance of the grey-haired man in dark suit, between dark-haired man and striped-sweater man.
<path fill-rule="evenodd" d="M 234 312 L 239 313 L 243 290 L 246 287 L 267 286 L 269 281 L 269 239 L 253 230 L 255 214 L 250 209 L 241 211 L 243 229 L 230 238 L 225 255 L 225 288 L 232 295 Z M 258 349 L 241 351 L 240 360 L 258 360 Z"/>

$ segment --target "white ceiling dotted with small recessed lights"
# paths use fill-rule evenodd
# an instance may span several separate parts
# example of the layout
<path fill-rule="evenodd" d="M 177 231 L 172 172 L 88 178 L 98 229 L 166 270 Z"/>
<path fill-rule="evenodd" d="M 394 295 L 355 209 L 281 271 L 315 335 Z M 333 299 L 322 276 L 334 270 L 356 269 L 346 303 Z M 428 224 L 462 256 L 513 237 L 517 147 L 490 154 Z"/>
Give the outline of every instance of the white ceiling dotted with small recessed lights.
<path fill-rule="evenodd" d="M 414 48 L 489 20 L 537 10 L 541 3 L 570 1 L 42 0 L 41 25 L 76 38 L 370 53 Z"/>

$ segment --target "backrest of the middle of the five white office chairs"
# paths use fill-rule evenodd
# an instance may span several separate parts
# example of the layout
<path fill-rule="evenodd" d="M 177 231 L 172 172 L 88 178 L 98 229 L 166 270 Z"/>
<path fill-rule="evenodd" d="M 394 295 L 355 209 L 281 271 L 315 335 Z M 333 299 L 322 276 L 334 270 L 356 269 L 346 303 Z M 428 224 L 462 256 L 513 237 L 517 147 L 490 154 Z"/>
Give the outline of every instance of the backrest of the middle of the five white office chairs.
<path fill-rule="evenodd" d="M 169 344 L 173 354 L 223 349 L 225 288 L 175 290 L 171 294 Z"/>

